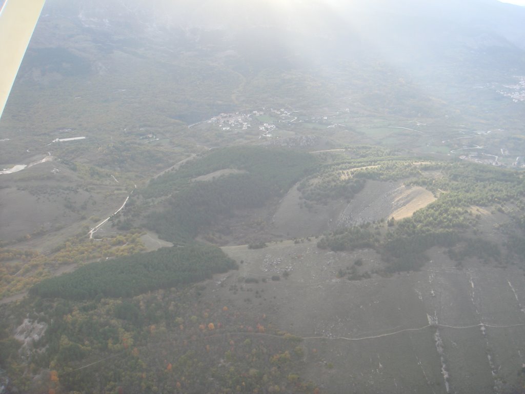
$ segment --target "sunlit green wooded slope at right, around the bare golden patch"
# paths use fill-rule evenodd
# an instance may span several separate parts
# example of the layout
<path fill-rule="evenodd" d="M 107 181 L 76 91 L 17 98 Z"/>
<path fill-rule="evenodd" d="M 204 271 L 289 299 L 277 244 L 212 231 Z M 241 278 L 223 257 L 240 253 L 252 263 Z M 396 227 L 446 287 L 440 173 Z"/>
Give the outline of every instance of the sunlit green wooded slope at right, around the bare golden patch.
<path fill-rule="evenodd" d="M 336 230 L 323 237 L 319 247 L 333 251 L 376 248 L 390 272 L 420 269 L 427 261 L 424 252 L 433 246 L 448 248 L 449 256 L 458 265 L 466 257 L 476 257 L 487 263 L 523 262 L 518 245 L 525 238 L 521 231 L 513 230 L 521 225 L 525 209 L 523 173 L 468 163 L 404 160 L 370 163 L 374 165 L 356 169 L 352 162 L 338 164 L 334 171 L 346 171 L 357 179 L 402 178 L 406 184 L 422 185 L 432 191 L 437 200 L 411 217 L 388 220 L 384 236 L 379 231 L 382 225 L 368 223 Z M 512 217 L 514 223 L 502 227 L 507 229 L 506 241 L 492 241 L 482 235 L 481 215 L 474 213 L 476 206 L 506 212 Z"/>

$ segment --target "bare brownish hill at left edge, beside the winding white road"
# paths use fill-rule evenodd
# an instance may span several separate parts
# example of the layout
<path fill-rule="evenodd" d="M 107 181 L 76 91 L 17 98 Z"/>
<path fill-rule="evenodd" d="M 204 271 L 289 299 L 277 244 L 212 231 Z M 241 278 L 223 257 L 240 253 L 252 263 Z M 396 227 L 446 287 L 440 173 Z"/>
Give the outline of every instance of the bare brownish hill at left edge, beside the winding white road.
<path fill-rule="evenodd" d="M 125 186 L 111 178 L 86 185 L 66 165 L 48 161 L 13 174 L 3 174 L 0 239 L 7 242 L 77 233 L 83 225 L 107 217 L 125 199 Z M 91 218 L 91 220 L 90 220 Z M 48 249 L 56 246 L 43 242 Z"/>

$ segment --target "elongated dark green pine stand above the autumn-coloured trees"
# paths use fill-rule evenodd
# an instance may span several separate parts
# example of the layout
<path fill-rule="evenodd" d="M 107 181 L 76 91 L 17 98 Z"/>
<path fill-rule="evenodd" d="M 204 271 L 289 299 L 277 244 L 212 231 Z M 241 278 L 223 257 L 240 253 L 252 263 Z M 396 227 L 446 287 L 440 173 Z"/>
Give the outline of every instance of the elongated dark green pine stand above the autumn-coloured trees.
<path fill-rule="evenodd" d="M 131 297 L 202 281 L 236 267 L 218 247 L 174 246 L 88 264 L 73 273 L 45 279 L 31 287 L 30 294 L 76 300 Z"/>

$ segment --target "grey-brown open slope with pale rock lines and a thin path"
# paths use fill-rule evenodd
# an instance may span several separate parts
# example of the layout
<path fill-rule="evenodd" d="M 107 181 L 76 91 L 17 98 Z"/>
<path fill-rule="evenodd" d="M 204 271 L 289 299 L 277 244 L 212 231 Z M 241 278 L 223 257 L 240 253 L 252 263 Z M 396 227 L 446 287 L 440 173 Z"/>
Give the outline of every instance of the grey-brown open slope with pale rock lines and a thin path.
<path fill-rule="evenodd" d="M 323 392 L 493 393 L 518 379 L 525 278 L 515 268 L 458 271 L 434 248 L 420 272 L 348 281 L 340 268 L 360 258 L 373 272 L 379 256 L 313 241 L 223 250 L 244 263 L 209 281 L 205 298 L 303 338 L 307 375 Z"/>

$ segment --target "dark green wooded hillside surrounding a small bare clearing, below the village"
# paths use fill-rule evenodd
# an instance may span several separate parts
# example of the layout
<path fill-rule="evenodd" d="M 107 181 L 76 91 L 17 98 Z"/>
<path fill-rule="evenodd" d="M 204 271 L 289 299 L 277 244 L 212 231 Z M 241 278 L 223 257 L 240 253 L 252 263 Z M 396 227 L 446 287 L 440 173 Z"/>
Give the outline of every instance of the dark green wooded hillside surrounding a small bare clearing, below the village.
<path fill-rule="evenodd" d="M 146 226 L 164 239 L 184 243 L 205 226 L 226 219 L 235 210 L 258 208 L 283 196 L 293 184 L 312 172 L 316 158 L 282 148 L 233 147 L 218 149 L 190 161 L 181 170 L 150 182 L 146 197 L 172 194 L 167 207 L 150 214 Z M 233 173 L 204 182 L 199 175 L 234 169 Z"/>

